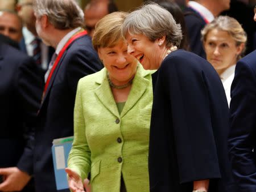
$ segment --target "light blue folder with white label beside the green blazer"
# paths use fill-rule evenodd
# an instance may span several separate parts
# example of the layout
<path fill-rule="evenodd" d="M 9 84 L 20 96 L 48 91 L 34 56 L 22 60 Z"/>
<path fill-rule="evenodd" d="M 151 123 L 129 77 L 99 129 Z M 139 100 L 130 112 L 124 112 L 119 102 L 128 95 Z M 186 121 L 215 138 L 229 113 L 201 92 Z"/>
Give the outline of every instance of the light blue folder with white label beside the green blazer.
<path fill-rule="evenodd" d="M 71 150 L 73 136 L 53 140 L 52 158 L 55 173 L 55 181 L 57 190 L 68 189 L 67 167 L 68 154 Z"/>

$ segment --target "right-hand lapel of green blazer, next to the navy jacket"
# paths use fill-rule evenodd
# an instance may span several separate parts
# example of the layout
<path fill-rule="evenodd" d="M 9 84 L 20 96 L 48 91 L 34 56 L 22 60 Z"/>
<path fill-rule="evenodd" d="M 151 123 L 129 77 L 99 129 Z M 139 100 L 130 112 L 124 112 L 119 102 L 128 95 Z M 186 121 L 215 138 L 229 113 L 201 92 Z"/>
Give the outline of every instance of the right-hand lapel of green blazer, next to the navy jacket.
<path fill-rule="evenodd" d="M 121 118 L 125 116 L 125 114 L 129 112 L 131 108 L 133 108 L 133 106 L 137 103 L 139 99 L 141 99 L 143 93 L 148 88 L 148 84 L 150 83 L 151 78 L 145 78 L 145 76 L 147 75 L 150 75 L 151 77 L 151 72 L 144 70 L 139 63 L 137 73 L 133 79 L 131 91 L 120 115 Z"/>

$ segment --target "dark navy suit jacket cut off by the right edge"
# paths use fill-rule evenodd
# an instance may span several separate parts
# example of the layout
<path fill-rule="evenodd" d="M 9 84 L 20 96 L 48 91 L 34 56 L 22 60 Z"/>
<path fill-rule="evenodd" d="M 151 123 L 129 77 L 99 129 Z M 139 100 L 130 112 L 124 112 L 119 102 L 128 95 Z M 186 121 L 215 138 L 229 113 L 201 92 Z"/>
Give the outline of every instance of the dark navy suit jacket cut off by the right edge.
<path fill-rule="evenodd" d="M 256 50 L 238 61 L 231 87 L 229 156 L 239 191 L 256 191 Z"/>

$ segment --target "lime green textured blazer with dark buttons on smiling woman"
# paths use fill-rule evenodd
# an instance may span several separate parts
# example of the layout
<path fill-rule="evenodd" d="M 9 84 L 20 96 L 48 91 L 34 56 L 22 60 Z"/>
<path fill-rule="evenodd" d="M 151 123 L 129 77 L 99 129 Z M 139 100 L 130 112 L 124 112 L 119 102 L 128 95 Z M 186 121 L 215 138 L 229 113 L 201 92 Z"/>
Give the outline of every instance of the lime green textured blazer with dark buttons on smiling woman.
<path fill-rule="evenodd" d="M 91 172 L 93 192 L 119 192 L 121 173 L 127 191 L 149 191 L 153 72 L 144 70 L 139 64 L 121 114 L 105 68 L 80 79 L 74 112 L 75 139 L 68 167 L 79 173 L 82 180 Z"/>

